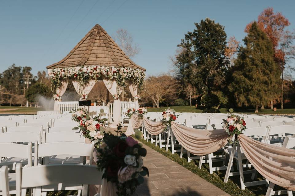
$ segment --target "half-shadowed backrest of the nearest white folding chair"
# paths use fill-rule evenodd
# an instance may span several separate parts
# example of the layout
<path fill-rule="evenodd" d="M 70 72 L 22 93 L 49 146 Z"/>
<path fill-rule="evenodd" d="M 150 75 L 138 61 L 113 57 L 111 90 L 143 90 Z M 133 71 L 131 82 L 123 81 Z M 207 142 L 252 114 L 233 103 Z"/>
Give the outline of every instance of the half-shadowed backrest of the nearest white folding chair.
<path fill-rule="evenodd" d="M 103 171 L 96 166 L 75 164 L 38 165 L 22 168 L 16 165 L 16 195 L 22 188 L 41 187 L 54 184 L 101 184 Z M 85 194 L 86 195 L 86 194 Z"/>

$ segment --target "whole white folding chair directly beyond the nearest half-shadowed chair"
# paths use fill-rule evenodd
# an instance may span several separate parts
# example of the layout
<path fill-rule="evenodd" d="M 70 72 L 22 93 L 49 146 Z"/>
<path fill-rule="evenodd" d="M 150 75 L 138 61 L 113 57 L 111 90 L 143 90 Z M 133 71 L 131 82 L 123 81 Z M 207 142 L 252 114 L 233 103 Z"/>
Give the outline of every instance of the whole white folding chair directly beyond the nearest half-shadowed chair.
<path fill-rule="evenodd" d="M 35 147 L 34 164 L 37 165 L 39 159 L 44 157 L 43 164 L 83 164 L 84 158 L 90 157 L 92 164 L 94 142 L 85 144 L 72 141 L 59 141 L 39 144 Z"/>

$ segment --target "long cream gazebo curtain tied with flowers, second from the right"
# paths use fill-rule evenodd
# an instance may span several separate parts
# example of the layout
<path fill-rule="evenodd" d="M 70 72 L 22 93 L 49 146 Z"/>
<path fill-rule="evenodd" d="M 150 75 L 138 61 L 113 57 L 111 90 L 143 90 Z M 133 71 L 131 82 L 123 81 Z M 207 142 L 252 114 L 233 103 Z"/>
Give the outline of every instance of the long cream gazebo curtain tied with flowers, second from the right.
<path fill-rule="evenodd" d="M 117 82 L 114 80 L 106 80 L 103 79 L 104 85 L 107 87 L 108 91 L 111 93 L 112 96 L 120 95 L 122 92 L 122 88 L 117 85 Z M 120 99 L 114 100 L 113 104 L 113 120 L 114 122 L 110 124 L 111 128 L 116 128 L 117 124 L 121 119 L 121 104 Z"/>

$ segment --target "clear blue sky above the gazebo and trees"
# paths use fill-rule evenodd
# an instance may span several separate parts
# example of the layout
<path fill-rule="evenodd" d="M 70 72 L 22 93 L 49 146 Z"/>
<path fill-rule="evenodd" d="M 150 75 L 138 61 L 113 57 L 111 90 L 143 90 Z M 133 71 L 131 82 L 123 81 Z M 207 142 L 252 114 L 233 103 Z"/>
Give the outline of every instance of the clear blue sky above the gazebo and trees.
<path fill-rule="evenodd" d="M 33 74 L 63 57 L 95 25 L 110 36 L 127 29 L 141 49 L 132 60 L 147 74 L 171 70 L 169 57 L 194 22 L 210 18 L 238 41 L 245 26 L 267 7 L 295 28 L 295 1 L 0 0 L 0 72 L 15 63 Z M 77 12 L 75 12 L 77 10 Z"/>

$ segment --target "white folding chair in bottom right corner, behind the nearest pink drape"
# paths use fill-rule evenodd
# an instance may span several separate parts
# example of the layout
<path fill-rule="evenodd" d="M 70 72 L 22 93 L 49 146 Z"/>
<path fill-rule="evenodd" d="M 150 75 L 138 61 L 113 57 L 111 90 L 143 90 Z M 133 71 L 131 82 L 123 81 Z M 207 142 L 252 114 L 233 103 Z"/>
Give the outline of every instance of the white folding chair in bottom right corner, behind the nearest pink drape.
<path fill-rule="evenodd" d="M 295 138 L 285 137 L 282 147 L 288 148 L 288 149 L 294 149 L 295 148 Z M 281 195 L 281 194 L 287 194 L 288 196 L 293 195 L 292 190 L 273 190 L 274 186 L 275 186 L 274 183 L 269 182 L 265 196 Z"/>

